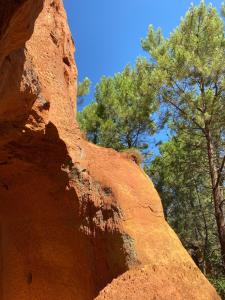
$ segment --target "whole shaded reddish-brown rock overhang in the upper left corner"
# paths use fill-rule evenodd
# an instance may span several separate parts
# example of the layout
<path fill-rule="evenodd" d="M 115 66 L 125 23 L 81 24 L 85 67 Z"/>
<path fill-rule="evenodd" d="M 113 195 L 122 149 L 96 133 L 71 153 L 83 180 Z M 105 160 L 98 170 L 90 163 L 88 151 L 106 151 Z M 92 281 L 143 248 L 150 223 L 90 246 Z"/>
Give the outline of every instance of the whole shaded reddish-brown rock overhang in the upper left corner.
<path fill-rule="evenodd" d="M 11 138 L 15 137 L 40 93 L 25 43 L 34 31 L 43 3 L 43 0 L 0 0 L 1 143 L 9 131 Z"/>

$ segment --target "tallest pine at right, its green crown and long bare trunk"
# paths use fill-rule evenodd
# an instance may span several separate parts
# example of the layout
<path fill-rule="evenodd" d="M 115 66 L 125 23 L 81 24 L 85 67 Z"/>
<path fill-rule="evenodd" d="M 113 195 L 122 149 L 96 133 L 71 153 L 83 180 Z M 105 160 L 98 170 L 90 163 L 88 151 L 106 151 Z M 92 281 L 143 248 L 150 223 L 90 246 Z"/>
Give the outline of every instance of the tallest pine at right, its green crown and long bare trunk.
<path fill-rule="evenodd" d="M 192 6 L 168 39 L 149 28 L 142 41 L 150 54 L 151 90 L 169 107 L 174 127 L 203 138 L 225 266 L 225 39 L 224 22 L 211 5 Z"/>

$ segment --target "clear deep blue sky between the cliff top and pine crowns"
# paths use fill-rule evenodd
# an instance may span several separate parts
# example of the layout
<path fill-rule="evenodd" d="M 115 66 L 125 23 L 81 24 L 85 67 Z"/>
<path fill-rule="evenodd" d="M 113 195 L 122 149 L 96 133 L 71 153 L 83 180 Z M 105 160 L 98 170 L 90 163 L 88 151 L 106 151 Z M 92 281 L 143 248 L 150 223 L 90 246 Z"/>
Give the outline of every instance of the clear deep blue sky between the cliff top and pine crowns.
<path fill-rule="evenodd" d="M 211 2 L 218 9 L 222 0 Z M 140 40 L 149 24 L 161 27 L 165 36 L 184 16 L 190 0 L 64 0 L 76 44 L 79 80 L 89 77 L 93 95 L 102 75 L 113 75 L 144 52 Z"/>

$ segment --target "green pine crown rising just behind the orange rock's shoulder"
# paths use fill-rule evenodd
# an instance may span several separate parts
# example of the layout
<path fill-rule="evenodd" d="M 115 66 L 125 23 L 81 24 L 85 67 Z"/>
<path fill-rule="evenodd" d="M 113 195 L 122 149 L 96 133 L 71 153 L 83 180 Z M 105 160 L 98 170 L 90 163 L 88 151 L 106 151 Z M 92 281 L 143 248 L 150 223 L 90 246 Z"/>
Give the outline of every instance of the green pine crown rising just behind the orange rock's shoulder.
<path fill-rule="evenodd" d="M 152 114 L 158 109 L 148 88 L 151 66 L 139 59 L 113 77 L 102 77 L 95 101 L 78 115 L 89 140 L 116 150 L 146 147 L 145 135 L 155 132 Z"/>

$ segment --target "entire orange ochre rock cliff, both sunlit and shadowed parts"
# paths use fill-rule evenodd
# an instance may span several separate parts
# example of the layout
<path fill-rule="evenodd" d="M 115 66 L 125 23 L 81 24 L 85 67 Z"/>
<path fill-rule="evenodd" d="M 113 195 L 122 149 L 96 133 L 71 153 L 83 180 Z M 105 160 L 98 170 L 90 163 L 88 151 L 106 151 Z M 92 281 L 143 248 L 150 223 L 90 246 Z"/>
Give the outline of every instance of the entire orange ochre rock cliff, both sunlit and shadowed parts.
<path fill-rule="evenodd" d="M 0 299 L 219 299 L 144 172 L 81 138 L 62 1 L 0 0 L 0 26 Z"/>

